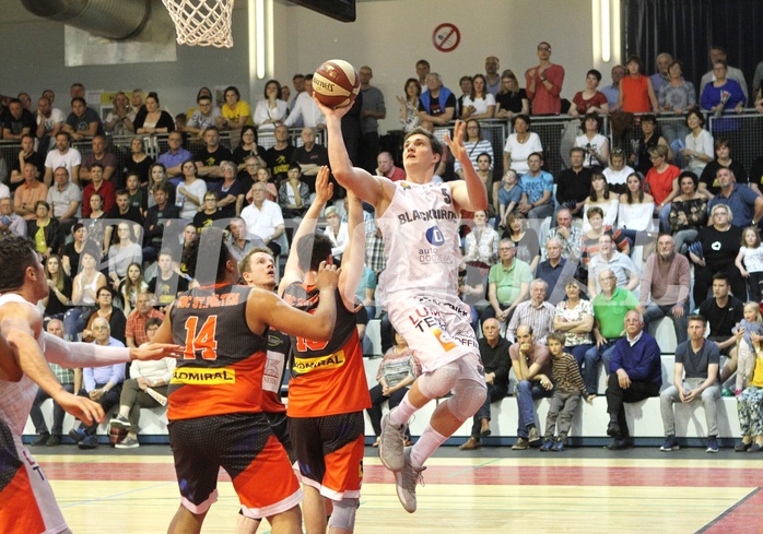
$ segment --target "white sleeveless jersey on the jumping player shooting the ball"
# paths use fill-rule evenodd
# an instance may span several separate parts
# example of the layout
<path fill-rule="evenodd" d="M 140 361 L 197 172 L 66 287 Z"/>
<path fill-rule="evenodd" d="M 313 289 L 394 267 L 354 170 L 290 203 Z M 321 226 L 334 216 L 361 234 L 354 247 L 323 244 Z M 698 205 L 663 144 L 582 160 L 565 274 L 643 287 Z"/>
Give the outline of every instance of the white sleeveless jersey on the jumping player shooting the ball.
<path fill-rule="evenodd" d="M 458 290 L 459 216 L 450 188 L 395 182 L 395 195 L 377 223 L 384 236 L 386 294 Z"/>

